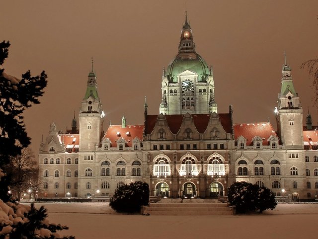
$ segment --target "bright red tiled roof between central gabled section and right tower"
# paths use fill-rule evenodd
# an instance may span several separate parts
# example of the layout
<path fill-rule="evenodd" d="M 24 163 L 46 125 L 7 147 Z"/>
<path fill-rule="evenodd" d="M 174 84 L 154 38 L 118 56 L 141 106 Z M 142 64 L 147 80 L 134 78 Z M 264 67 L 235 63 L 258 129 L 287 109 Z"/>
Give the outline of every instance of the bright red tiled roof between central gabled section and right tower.
<path fill-rule="evenodd" d="M 259 136 L 263 139 L 263 145 L 268 145 L 267 139 L 272 135 L 278 138 L 272 125 L 266 123 L 234 123 L 234 135 L 235 140 L 239 136 L 243 136 L 247 141 L 246 145 L 253 145 L 252 139 L 255 136 Z"/>

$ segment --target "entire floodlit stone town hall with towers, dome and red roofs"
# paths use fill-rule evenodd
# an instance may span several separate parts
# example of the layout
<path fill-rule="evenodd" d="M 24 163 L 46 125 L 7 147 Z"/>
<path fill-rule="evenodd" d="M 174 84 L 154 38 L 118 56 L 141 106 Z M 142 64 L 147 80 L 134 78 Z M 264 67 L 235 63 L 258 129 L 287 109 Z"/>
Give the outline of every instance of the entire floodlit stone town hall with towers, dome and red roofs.
<path fill-rule="evenodd" d="M 285 60 L 276 108 L 277 131 L 269 122 L 235 123 L 233 109 L 218 113 L 212 68 L 195 51 L 187 16 L 178 54 L 161 79 L 159 115 L 137 125 L 109 125 L 93 67 L 72 130 L 50 125 L 39 165 L 42 197 L 112 195 L 116 188 L 145 181 L 152 196 L 227 196 L 236 181 L 270 188 L 277 196 L 315 198 L 318 137 L 303 109 Z"/>

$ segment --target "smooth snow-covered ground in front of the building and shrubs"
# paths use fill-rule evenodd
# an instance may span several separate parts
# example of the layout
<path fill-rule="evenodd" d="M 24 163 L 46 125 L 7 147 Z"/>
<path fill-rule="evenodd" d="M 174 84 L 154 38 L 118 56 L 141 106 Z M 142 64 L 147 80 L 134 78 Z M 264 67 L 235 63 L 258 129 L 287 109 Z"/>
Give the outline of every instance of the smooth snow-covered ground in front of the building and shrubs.
<path fill-rule="evenodd" d="M 263 214 L 237 216 L 120 215 L 106 203 L 36 203 L 50 223 L 77 239 L 301 239 L 317 238 L 318 204 L 278 204 Z"/>

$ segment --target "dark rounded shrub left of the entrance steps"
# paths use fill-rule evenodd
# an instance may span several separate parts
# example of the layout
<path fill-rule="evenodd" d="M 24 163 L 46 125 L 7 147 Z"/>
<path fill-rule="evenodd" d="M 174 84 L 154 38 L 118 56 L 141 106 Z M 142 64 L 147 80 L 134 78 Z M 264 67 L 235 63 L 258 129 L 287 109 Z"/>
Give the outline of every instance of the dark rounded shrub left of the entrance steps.
<path fill-rule="evenodd" d="M 109 206 L 116 212 L 136 213 L 149 203 L 148 183 L 137 181 L 116 189 Z"/>

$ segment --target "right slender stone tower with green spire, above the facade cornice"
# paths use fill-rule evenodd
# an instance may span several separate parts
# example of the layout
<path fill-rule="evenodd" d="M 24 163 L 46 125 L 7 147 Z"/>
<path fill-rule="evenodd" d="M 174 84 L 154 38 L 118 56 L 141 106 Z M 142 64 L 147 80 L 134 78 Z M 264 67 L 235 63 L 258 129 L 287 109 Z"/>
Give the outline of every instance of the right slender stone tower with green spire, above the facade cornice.
<path fill-rule="evenodd" d="M 303 108 L 293 84 L 291 68 L 286 62 L 286 53 L 282 74 L 276 111 L 278 135 L 286 149 L 303 149 Z"/>

